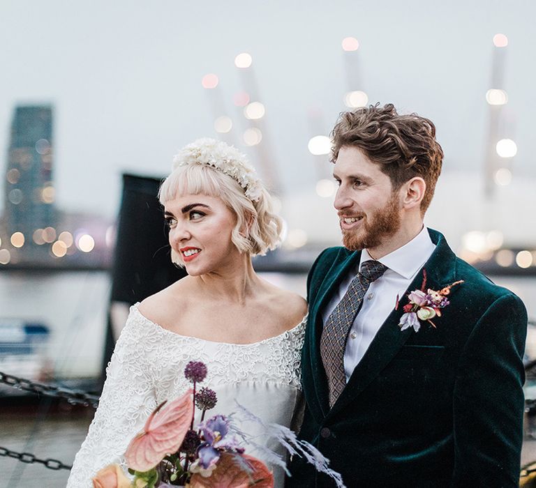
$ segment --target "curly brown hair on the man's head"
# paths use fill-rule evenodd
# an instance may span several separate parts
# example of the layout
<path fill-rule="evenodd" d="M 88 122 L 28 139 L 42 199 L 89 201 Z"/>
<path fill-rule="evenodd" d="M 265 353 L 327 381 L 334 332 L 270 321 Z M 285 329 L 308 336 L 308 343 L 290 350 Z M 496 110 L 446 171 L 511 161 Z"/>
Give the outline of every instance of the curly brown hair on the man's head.
<path fill-rule="evenodd" d="M 332 130 L 332 162 L 343 146 L 357 147 L 380 165 L 391 179 L 393 190 L 420 176 L 426 183 L 421 202 L 424 214 L 441 172 L 443 150 L 435 140 L 435 125 L 417 114 L 399 114 L 392 103 L 379 103 L 339 115 Z"/>

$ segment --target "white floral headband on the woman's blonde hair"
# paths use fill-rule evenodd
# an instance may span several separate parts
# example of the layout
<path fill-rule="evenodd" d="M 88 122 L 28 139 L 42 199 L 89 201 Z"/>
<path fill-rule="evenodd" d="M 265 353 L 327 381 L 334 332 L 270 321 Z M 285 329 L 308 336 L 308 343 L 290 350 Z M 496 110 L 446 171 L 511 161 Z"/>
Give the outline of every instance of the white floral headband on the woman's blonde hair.
<path fill-rule="evenodd" d="M 174 155 L 173 169 L 188 165 L 209 165 L 230 176 L 244 189 L 246 197 L 257 201 L 261 194 L 260 180 L 248 158 L 234 146 L 216 139 L 197 139 Z"/>

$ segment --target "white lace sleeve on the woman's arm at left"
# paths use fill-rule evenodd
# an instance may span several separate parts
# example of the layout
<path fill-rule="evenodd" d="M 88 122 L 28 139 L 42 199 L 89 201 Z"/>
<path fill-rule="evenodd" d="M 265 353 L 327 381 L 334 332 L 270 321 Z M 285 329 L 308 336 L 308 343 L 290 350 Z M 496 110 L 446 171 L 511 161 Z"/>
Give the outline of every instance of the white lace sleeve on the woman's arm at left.
<path fill-rule="evenodd" d="M 156 407 L 154 369 L 158 342 L 154 330 L 131 314 L 106 369 L 103 394 L 78 451 L 67 482 L 68 488 L 91 487 L 91 478 L 107 464 L 124 468 L 124 451 Z"/>

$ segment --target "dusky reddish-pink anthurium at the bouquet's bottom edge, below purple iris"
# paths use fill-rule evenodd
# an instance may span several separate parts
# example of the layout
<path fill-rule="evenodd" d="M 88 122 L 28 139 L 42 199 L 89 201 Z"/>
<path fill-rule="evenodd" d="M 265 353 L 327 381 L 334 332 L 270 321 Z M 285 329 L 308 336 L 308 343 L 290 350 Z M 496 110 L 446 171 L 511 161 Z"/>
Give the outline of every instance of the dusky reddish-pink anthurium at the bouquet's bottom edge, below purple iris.
<path fill-rule="evenodd" d="M 274 475 L 266 464 L 248 455 L 241 457 L 251 466 L 250 473 L 244 471 L 233 455 L 223 452 L 211 475 L 205 478 L 201 473 L 195 473 L 187 485 L 188 488 L 274 488 Z"/>

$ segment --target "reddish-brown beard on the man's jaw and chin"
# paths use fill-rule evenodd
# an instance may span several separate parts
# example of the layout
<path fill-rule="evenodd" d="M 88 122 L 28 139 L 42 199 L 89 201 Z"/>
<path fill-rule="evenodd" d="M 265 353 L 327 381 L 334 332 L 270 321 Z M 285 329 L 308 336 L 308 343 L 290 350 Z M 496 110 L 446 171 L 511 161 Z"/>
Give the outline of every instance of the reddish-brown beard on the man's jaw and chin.
<path fill-rule="evenodd" d="M 377 247 L 400 229 L 400 220 L 400 204 L 392 195 L 383 208 L 364 216 L 359 229 L 343 230 L 343 245 L 350 251 Z"/>

